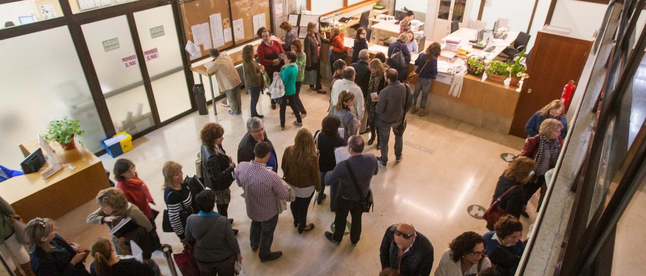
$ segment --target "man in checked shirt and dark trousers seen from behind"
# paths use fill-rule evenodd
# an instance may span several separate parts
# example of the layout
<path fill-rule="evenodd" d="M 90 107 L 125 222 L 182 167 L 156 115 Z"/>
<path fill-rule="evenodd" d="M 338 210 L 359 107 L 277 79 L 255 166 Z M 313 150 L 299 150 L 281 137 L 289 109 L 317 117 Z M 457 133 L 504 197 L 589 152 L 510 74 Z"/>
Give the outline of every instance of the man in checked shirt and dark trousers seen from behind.
<path fill-rule="evenodd" d="M 289 199 L 289 192 L 278 174 L 267 169 L 270 152 L 269 143 L 258 142 L 253 149 L 255 159 L 241 162 L 236 168 L 236 180 L 244 190 L 247 216 L 251 219 L 251 250 L 260 248 L 258 257 L 262 262 L 282 256 L 282 251 L 271 251 L 271 242 L 278 223 L 278 199 Z"/>

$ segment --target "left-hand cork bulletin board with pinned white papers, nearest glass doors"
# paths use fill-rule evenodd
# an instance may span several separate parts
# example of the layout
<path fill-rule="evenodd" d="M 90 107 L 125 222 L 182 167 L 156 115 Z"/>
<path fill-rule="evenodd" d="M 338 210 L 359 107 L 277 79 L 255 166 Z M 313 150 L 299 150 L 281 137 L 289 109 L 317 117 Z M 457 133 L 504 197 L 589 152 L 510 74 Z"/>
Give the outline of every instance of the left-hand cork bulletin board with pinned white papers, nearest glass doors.
<path fill-rule="evenodd" d="M 193 0 L 193 1 L 184 1 L 180 2 L 180 8 L 182 9 L 182 20 L 184 25 L 184 34 L 186 34 L 187 41 L 197 41 L 203 40 L 205 37 L 211 39 L 211 43 L 203 43 L 198 45 L 200 47 L 201 56 L 209 55 L 209 50 L 213 48 L 214 44 L 214 34 L 213 26 L 222 28 L 222 35 L 224 35 L 224 44 L 217 46 L 218 50 L 224 48 L 229 48 L 233 46 L 233 39 L 227 41 L 226 37 L 232 37 L 233 34 L 231 29 L 231 16 L 229 15 L 229 0 Z M 219 24 L 214 24 L 211 22 L 213 15 L 220 14 L 221 22 Z M 267 16 L 269 19 L 269 16 Z M 198 26 L 207 24 L 208 28 L 199 28 Z M 197 28 L 196 28 L 197 27 Z M 208 30 L 208 32 L 207 32 Z M 194 35 L 194 31 L 196 34 Z M 200 31 L 199 33 L 197 31 Z M 227 31 L 229 34 L 227 34 Z M 208 33 L 208 34 L 207 34 Z M 220 37 L 222 37 L 220 35 Z M 185 41 L 186 42 L 186 41 Z M 196 43 L 197 44 L 197 43 Z M 209 46 L 210 45 L 210 46 Z"/>

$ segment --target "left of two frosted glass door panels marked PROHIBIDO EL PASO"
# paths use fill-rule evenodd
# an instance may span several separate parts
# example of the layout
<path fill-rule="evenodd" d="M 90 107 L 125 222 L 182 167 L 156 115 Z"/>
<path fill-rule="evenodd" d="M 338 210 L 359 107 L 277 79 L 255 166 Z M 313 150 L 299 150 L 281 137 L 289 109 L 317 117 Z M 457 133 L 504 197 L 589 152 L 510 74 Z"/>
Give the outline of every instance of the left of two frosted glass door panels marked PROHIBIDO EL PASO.
<path fill-rule="evenodd" d="M 117 132 L 136 134 L 154 125 L 125 15 L 81 29 Z"/>

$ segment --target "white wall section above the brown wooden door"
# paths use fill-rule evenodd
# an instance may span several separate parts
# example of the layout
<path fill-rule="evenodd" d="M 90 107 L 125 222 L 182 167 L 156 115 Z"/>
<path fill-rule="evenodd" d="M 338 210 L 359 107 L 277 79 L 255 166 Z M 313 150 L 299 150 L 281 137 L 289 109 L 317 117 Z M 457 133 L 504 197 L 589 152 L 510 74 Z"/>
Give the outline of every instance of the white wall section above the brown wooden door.
<path fill-rule="evenodd" d="M 571 37 L 594 39 L 607 5 L 575 0 L 556 2 L 550 25 L 568 28 Z"/>

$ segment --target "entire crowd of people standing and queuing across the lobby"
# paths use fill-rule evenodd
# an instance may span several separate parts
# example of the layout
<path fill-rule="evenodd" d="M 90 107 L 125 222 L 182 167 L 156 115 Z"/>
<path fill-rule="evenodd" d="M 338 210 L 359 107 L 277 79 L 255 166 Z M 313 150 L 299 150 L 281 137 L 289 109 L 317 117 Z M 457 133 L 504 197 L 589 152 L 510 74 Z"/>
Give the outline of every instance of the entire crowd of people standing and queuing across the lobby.
<path fill-rule="evenodd" d="M 232 227 L 234 220 L 229 218 L 227 210 L 232 201 L 233 182 L 244 190 L 247 217 L 251 219 L 249 242 L 261 262 L 282 256 L 282 251 L 273 251 L 272 245 L 278 216 L 287 209 L 287 202 L 294 227 L 299 234 L 305 234 L 315 228 L 315 224 L 308 223 L 307 207 L 312 199 L 317 204 L 328 199 L 326 186 L 329 186 L 329 208 L 335 213 L 334 224 L 345 226 L 349 214 L 349 242 L 351 246 L 357 245 L 362 215 L 371 210 L 372 178 L 379 172 L 379 166 L 388 163 L 390 132 L 395 135 L 395 160 L 399 162 L 403 155 L 406 114 L 410 111 L 419 116 L 428 115 L 425 107 L 437 75 L 441 48 L 432 43 L 419 55 L 415 61 L 419 81 L 411 88 L 406 80 L 410 52 L 416 45 L 410 49 L 406 44 L 412 41 L 410 16 L 402 21 L 402 34 L 388 50 L 389 57 L 400 55 L 406 67 L 393 58 L 386 61 L 386 57 L 377 55 L 370 59 L 363 28 L 357 30 L 353 63 L 349 66 L 343 60 L 346 48 L 342 40 L 339 44 L 338 30 L 333 28 L 328 40 L 320 37 L 316 23 L 307 25 L 305 43 L 285 22 L 280 25 L 288 31 L 282 43 L 272 40 L 269 30 L 260 28 L 260 46 L 244 47 L 244 77 L 251 92 L 252 117 L 246 122 L 247 132 L 238 144 L 236 161 L 222 146 L 225 129 L 220 124 L 207 123 L 200 132 L 200 177 L 183 177 L 182 166 L 173 161 L 167 161 L 161 169 L 166 205 L 162 230 L 176 233 L 182 244 L 193 248 L 201 275 L 234 275 L 236 262 L 242 262 L 238 230 Z M 285 127 L 287 105 L 296 117 L 293 124 L 302 126 L 302 118 L 307 115 L 299 97 L 304 71 L 317 71 L 315 84 L 310 88 L 326 93 L 320 85 L 322 43 L 331 43 L 332 47 L 333 79 L 328 115 L 322 119 L 320 130 L 314 133 L 300 128 L 293 144 L 284 148 L 279 162 L 276 150 L 280 149 L 267 137 L 264 116 L 256 111 L 265 85 L 263 75 L 282 79 L 284 95 L 274 98 L 278 103 L 271 102 L 273 108 L 280 105 L 281 129 Z M 215 72 L 220 90 L 227 94 L 231 104 L 229 113 L 240 115 L 241 80 L 233 61 L 215 49 L 211 50 L 211 56 L 214 60 L 207 63 L 207 68 Z M 419 94 L 422 97 L 418 108 Z M 523 224 L 519 219 L 528 216 L 528 201 L 539 189 L 540 206 L 547 190 L 545 174 L 556 166 L 566 128 L 563 104 L 558 100 L 532 116 L 526 125 L 528 138 L 522 152 L 508 164 L 495 186 L 492 203 L 504 213 L 495 221 L 488 221 L 486 226 L 491 232 L 480 235 L 468 231 L 455 237 L 437 262 L 436 276 L 514 274 L 525 249 L 521 241 Z M 370 133 L 368 146 L 377 141 L 380 157 L 364 153 L 366 141 L 362 133 Z M 349 157 L 337 162 L 335 150 L 339 147 L 347 148 Z M 278 175 L 279 168 L 282 177 Z M 14 222 L 20 221 L 20 217 L 0 198 L 0 252 L 9 260 L 10 269 L 17 275 L 159 275 L 151 255 L 161 248 L 155 223 L 160 212 L 149 205 L 158 201 L 152 198 L 132 161 L 118 159 L 113 172 L 116 186 L 98 193 L 98 209 L 89 214 L 87 223 L 105 224 L 114 233 L 112 239 L 97 238 L 89 249 L 61 237 L 54 221 L 48 218 L 27 222 L 22 238 L 26 241 L 21 241 L 19 231 L 14 230 Z M 0 177 L 5 180 L 19 174 L 2 167 Z M 336 227 L 333 232 L 324 232 L 324 237 L 339 245 L 344 231 L 344 227 Z M 130 256 L 131 242 L 141 248 L 143 262 L 134 261 Z M 25 243 L 30 244 L 29 251 L 25 250 Z M 89 255 L 94 262 L 88 271 L 84 262 Z M 430 275 L 434 264 L 432 242 L 410 222 L 386 228 L 379 256 L 380 275 Z"/>

